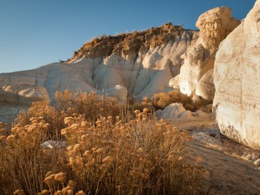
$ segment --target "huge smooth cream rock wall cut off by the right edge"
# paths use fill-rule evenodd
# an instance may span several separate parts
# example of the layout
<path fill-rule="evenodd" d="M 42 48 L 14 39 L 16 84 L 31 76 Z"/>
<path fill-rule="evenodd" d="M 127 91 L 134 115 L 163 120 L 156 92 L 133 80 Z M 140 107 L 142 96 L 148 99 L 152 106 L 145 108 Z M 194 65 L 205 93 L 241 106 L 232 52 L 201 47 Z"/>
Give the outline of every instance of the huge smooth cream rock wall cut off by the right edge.
<path fill-rule="evenodd" d="M 260 150 L 260 1 L 216 55 L 213 113 L 227 137 Z"/>

